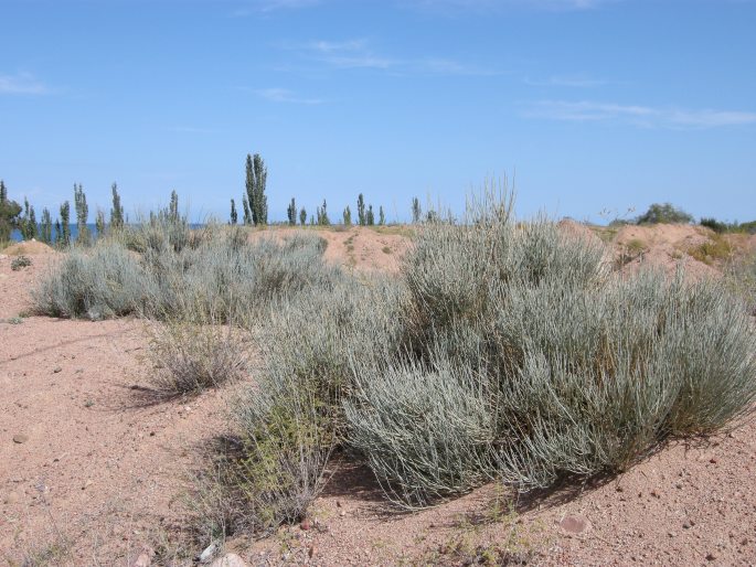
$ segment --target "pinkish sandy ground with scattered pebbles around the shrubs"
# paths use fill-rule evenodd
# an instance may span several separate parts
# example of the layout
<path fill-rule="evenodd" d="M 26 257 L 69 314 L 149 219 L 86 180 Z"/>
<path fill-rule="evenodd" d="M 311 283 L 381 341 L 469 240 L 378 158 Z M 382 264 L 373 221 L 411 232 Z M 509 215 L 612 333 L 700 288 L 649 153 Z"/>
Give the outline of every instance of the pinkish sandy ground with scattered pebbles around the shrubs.
<path fill-rule="evenodd" d="M 654 249 L 663 238 L 696 237 L 678 232 L 654 233 L 661 244 L 648 234 L 618 238 L 646 237 Z M 365 228 L 319 233 L 330 261 L 368 271 L 396 270 L 411 245 Z M 189 477 L 202 448 L 227 430 L 235 389 L 146 404 L 134 388 L 150 373 L 140 321 L 12 320 L 55 256 L 30 256 L 33 266 L 19 271 L 0 257 L 0 563 L 126 566 L 149 548 L 152 565 L 163 565 L 161 546 L 184 525 Z M 499 560 L 534 565 L 756 565 L 753 421 L 511 509 L 489 485 L 404 513 L 369 471 L 341 463 L 332 472 L 305 525 L 262 542 L 236 537 L 228 549 L 249 565 L 470 565 L 504 549 Z"/>

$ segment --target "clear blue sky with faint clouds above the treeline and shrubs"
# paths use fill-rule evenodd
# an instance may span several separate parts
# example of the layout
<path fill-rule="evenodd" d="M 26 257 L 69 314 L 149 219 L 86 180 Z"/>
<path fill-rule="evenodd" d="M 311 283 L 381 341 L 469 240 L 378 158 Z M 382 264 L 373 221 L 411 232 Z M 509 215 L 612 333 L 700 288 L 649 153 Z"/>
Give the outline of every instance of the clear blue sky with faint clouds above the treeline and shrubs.
<path fill-rule="evenodd" d="M 0 0 L 0 178 L 90 216 L 175 189 L 227 217 L 244 159 L 274 217 L 359 192 L 457 210 L 515 178 L 522 215 L 671 201 L 756 218 L 753 0 Z"/>

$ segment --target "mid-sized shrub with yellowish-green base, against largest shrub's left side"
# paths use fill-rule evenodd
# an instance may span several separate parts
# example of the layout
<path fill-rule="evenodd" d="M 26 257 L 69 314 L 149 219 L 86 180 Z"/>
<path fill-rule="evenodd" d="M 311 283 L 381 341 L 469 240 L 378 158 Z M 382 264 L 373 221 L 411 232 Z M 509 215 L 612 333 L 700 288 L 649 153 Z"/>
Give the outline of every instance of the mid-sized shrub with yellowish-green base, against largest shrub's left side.
<path fill-rule="evenodd" d="M 348 435 L 342 400 L 352 395 L 351 366 L 393 353 L 401 304 L 388 281 L 349 279 L 274 303 L 256 336 L 264 361 L 257 385 L 235 411 L 241 456 L 226 471 L 236 479 L 230 498 L 246 505 L 227 522 L 268 529 L 305 513 Z"/>

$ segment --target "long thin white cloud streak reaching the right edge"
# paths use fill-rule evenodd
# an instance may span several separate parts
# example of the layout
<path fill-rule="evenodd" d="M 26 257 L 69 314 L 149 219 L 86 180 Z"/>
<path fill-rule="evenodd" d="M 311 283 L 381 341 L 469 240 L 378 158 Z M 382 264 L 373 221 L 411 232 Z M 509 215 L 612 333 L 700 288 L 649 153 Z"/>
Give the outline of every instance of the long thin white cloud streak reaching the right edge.
<path fill-rule="evenodd" d="M 756 124 L 756 113 L 662 108 L 589 100 L 540 100 L 528 105 L 526 117 L 584 122 L 625 122 L 643 128 L 704 129 Z"/>

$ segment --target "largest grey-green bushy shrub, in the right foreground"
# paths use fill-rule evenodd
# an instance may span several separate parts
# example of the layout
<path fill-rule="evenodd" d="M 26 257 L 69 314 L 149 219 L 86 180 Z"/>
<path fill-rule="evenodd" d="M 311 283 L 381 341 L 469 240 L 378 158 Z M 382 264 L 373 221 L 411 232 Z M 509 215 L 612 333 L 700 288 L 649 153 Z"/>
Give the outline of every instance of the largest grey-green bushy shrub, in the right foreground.
<path fill-rule="evenodd" d="M 622 470 L 756 397 L 756 338 L 721 284 L 620 277 L 600 244 L 497 202 L 427 225 L 403 282 L 402 346 L 353 364 L 344 406 L 349 441 L 407 505 Z"/>

